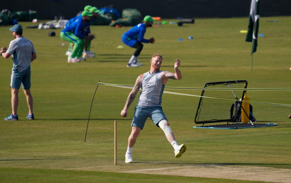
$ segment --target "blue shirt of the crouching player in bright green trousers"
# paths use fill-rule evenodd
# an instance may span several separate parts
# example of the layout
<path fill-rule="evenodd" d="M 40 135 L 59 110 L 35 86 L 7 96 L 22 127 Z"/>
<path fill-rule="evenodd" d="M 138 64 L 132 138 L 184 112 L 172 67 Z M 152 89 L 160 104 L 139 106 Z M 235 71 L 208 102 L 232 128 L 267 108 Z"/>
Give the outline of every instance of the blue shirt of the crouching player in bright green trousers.
<path fill-rule="evenodd" d="M 81 19 L 77 19 L 74 22 L 72 22 L 71 24 L 69 24 L 69 26 L 66 26 L 63 30 L 63 33 L 65 32 L 70 32 L 75 34 L 75 36 L 78 36 L 79 38 L 84 39 L 85 38 L 85 24 L 84 21 Z"/>

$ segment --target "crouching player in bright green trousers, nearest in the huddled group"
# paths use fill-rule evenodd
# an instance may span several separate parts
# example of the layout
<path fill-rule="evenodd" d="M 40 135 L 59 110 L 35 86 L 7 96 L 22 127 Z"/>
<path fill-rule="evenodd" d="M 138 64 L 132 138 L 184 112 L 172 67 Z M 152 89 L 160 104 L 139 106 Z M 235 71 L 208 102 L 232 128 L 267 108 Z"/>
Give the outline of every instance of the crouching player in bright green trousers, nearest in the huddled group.
<path fill-rule="evenodd" d="M 85 24 L 90 22 L 92 14 L 88 11 L 83 11 L 81 15 L 81 19 L 77 19 L 69 24 L 60 34 L 63 40 L 74 44 L 72 54 L 68 58 L 69 63 L 79 62 L 82 59 L 85 38 L 88 38 L 88 36 L 85 36 Z"/>

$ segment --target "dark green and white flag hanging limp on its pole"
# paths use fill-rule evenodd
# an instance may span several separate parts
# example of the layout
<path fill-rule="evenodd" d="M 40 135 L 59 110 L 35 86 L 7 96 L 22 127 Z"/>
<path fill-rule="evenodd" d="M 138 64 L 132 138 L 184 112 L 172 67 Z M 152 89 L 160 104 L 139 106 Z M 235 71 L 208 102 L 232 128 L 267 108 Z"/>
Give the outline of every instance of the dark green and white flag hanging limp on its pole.
<path fill-rule="evenodd" d="M 251 55 L 256 52 L 258 46 L 259 18 L 259 0 L 252 0 L 248 33 L 246 34 L 246 41 L 253 42 Z"/>

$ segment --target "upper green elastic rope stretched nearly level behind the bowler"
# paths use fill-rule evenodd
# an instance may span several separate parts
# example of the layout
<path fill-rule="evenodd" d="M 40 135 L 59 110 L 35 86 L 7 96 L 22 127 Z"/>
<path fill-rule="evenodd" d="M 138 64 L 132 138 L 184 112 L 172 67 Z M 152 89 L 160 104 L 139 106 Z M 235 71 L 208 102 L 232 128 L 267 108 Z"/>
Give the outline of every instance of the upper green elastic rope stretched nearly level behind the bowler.
<path fill-rule="evenodd" d="M 122 85 L 122 84 L 109 84 L 99 83 L 99 85 L 109 86 L 128 86 L 133 87 L 134 85 Z M 165 89 L 176 89 L 176 90 L 242 90 L 242 91 L 262 91 L 262 90 L 291 90 L 291 88 L 181 88 L 181 87 L 165 87 Z"/>

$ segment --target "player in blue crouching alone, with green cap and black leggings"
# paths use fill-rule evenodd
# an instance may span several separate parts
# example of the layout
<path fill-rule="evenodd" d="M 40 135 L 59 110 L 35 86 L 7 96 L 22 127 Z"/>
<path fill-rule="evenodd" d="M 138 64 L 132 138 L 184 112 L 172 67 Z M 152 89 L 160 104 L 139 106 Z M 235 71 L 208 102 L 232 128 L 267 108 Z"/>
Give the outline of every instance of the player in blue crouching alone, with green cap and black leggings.
<path fill-rule="evenodd" d="M 143 38 L 146 33 L 146 28 L 151 27 L 154 19 L 151 16 L 147 15 L 143 19 L 143 23 L 140 23 L 131 29 L 129 29 L 126 33 L 122 35 L 122 42 L 129 47 L 136 48 L 134 54 L 131 56 L 127 67 L 139 67 L 139 65 L 143 65 L 137 60 L 140 52 L 142 51 L 142 43 L 154 43 L 155 39 L 152 37 L 149 40 Z"/>

